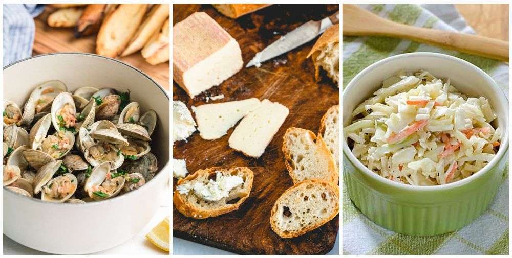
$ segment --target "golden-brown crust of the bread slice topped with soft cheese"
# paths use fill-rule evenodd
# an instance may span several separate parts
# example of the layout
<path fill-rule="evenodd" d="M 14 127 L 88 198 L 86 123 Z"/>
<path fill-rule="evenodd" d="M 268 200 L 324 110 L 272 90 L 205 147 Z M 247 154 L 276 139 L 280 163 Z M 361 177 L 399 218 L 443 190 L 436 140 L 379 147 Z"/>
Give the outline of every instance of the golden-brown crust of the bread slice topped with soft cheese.
<path fill-rule="evenodd" d="M 185 195 L 180 195 L 178 193 L 178 191 L 174 191 L 173 203 L 174 203 L 176 209 L 178 210 L 178 212 L 180 212 L 181 214 L 183 214 L 186 217 L 190 217 L 190 218 L 194 218 L 194 219 L 206 219 L 206 218 L 216 217 L 216 216 L 219 216 L 222 214 L 226 214 L 226 213 L 232 212 L 233 210 L 237 210 L 240 207 L 240 205 L 245 201 L 245 199 L 247 199 L 247 197 L 249 197 L 250 191 L 252 189 L 252 181 L 254 179 L 254 173 L 252 172 L 252 170 L 250 170 L 247 167 L 234 167 L 234 168 L 230 168 L 230 169 L 222 169 L 219 167 L 213 167 L 213 168 L 209 168 L 209 169 L 205 169 L 205 170 L 198 170 L 194 174 L 189 174 L 187 177 L 181 178 L 180 180 L 178 180 L 177 186 L 180 184 L 186 183 L 187 181 L 194 180 L 200 175 L 204 175 L 204 174 L 209 175 L 211 173 L 215 173 L 216 171 L 232 173 L 236 170 L 243 170 L 248 174 L 248 176 L 244 182 L 244 183 L 246 183 L 246 182 L 248 183 L 246 196 L 241 197 L 236 203 L 228 204 L 223 208 L 219 208 L 216 210 L 200 210 L 200 209 L 197 209 L 197 208 L 191 206 L 183 198 Z"/>

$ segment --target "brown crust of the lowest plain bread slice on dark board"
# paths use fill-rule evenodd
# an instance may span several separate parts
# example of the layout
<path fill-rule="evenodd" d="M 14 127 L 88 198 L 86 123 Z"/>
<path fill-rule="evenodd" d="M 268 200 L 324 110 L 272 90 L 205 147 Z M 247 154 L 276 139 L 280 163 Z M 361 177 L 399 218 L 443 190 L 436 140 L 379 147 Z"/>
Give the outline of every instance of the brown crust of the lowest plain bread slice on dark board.
<path fill-rule="evenodd" d="M 297 188 L 300 188 L 300 187 L 304 187 L 306 188 L 306 185 L 310 184 L 310 183 L 313 183 L 313 184 L 322 184 L 324 187 L 326 187 L 327 190 L 329 190 L 334 196 L 337 197 L 338 201 L 336 202 L 336 207 L 334 210 L 332 210 L 332 213 L 330 214 L 330 216 L 316 224 L 311 224 L 311 225 L 306 225 L 304 228 L 302 228 L 302 230 L 300 231 L 297 231 L 297 232 L 294 232 L 294 233 L 289 233 L 289 234 L 286 234 L 284 231 L 281 231 L 277 225 L 277 222 L 274 220 L 274 216 L 276 216 L 276 213 L 278 212 L 278 206 L 280 204 L 280 202 L 282 201 L 282 198 L 286 195 L 288 195 L 290 192 L 294 191 L 295 189 Z M 314 207 L 312 207 L 314 208 Z M 332 184 L 328 181 L 324 181 L 324 180 L 317 180 L 317 179 L 311 179 L 311 180 L 306 180 L 306 181 L 302 181 L 298 184 L 295 184 L 293 185 L 292 187 L 290 187 L 289 189 L 287 189 L 279 198 L 278 200 L 275 201 L 274 203 L 274 206 L 272 206 L 272 209 L 270 211 L 270 226 L 272 228 L 272 230 L 278 234 L 280 237 L 282 238 L 295 238 L 295 237 L 298 237 L 298 236 L 302 236 L 303 234 L 313 230 L 313 229 L 316 229 L 318 227 L 321 227 L 322 225 L 324 225 L 325 223 L 329 222 L 330 220 L 332 220 L 334 217 L 336 217 L 336 215 L 339 213 L 339 186 L 337 184 Z"/>

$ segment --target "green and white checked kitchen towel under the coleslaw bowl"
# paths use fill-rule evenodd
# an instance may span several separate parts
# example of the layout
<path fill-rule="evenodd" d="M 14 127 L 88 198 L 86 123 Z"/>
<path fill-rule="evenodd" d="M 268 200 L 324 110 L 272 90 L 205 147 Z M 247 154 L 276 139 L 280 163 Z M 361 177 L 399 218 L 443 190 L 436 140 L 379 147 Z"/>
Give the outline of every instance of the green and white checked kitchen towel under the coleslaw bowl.
<path fill-rule="evenodd" d="M 382 17 L 412 26 L 475 33 L 451 4 L 360 5 Z M 343 37 L 343 87 L 362 69 L 383 58 L 408 52 L 437 52 L 467 60 L 489 74 L 508 98 L 508 64 L 387 37 Z M 382 228 L 364 215 L 343 190 L 344 254 L 508 254 L 507 176 L 494 203 L 472 224 L 434 237 L 412 237 Z"/>

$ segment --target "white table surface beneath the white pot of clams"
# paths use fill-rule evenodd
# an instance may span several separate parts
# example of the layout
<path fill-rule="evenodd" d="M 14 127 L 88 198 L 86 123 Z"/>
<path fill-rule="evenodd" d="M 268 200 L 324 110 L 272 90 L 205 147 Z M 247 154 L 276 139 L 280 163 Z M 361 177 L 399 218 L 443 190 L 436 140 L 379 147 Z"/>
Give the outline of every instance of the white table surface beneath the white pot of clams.
<path fill-rule="evenodd" d="M 165 187 L 164 191 L 155 200 L 160 203 L 156 214 L 151 221 L 132 239 L 115 246 L 113 248 L 96 252 L 93 254 L 168 254 L 167 252 L 154 246 L 146 239 L 146 234 L 151 231 L 158 223 L 160 223 L 166 216 L 169 216 L 170 210 L 170 192 L 169 186 Z M 18 244 L 14 240 L 4 235 L 4 254 L 48 254 L 45 252 L 37 251 L 24 245 Z"/>

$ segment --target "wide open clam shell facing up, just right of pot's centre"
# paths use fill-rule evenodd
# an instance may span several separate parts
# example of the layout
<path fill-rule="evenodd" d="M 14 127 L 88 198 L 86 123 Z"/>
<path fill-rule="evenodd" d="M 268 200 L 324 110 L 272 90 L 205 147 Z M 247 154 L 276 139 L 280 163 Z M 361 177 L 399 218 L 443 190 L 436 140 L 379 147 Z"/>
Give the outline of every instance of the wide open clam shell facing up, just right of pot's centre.
<path fill-rule="evenodd" d="M 108 161 L 112 163 L 111 169 L 117 169 L 124 162 L 124 156 L 119 153 L 119 150 L 114 145 L 108 143 L 92 145 L 86 149 L 84 155 L 87 162 L 93 167 Z"/>

